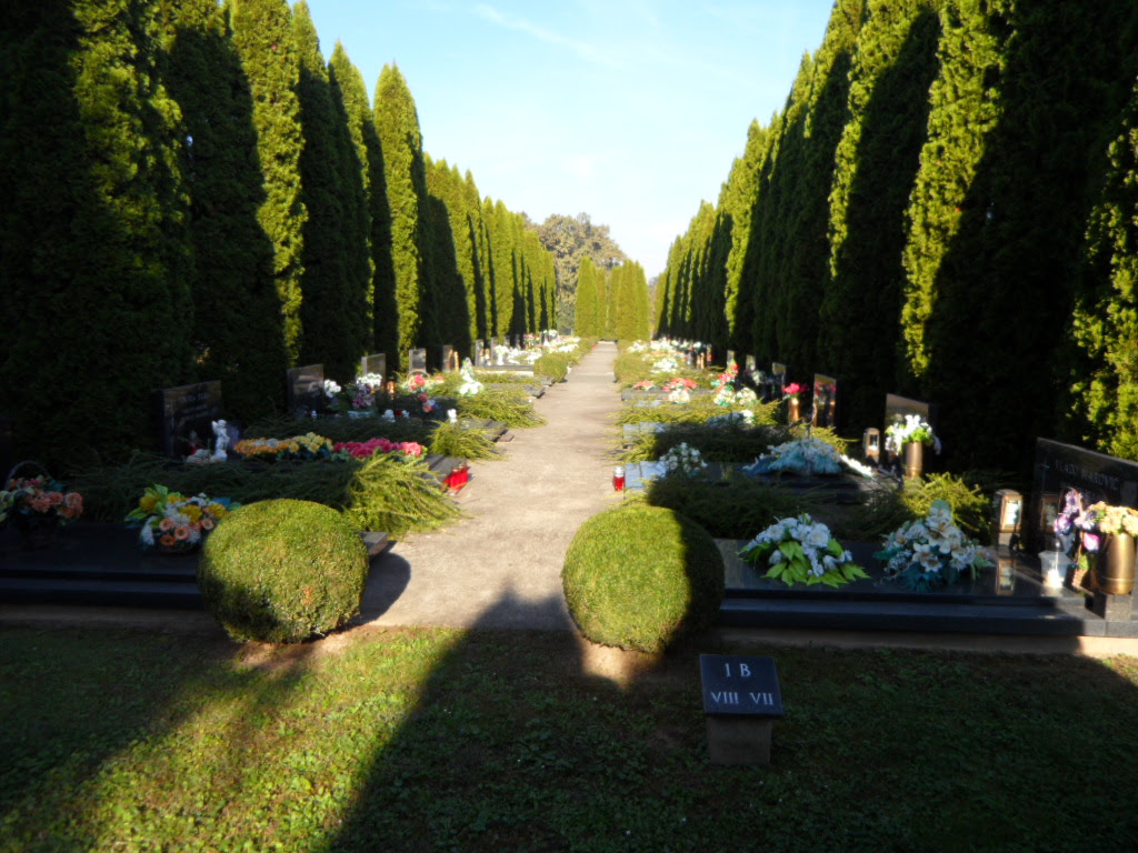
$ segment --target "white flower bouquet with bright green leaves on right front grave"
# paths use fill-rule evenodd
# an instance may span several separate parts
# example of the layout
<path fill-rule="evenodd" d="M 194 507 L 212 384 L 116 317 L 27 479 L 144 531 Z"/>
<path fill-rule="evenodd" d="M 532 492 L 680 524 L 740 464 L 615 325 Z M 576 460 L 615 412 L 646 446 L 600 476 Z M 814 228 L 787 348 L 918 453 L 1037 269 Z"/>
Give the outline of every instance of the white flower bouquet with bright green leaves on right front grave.
<path fill-rule="evenodd" d="M 840 587 L 869 577 L 831 536 L 830 528 L 805 513 L 776 521 L 743 546 L 739 556 L 786 586 Z"/>

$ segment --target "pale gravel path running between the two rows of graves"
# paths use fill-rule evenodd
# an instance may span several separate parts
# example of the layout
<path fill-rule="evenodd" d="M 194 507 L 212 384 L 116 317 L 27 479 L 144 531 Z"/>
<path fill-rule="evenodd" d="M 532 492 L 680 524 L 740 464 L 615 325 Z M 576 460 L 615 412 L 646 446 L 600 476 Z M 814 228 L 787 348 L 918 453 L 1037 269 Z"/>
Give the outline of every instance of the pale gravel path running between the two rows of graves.
<path fill-rule="evenodd" d="M 613 343 L 536 400 L 544 426 L 513 430 L 505 458 L 471 464 L 468 517 L 396 543 L 376 560 L 361 621 L 571 630 L 561 565 L 577 528 L 619 503 L 612 490 Z"/>

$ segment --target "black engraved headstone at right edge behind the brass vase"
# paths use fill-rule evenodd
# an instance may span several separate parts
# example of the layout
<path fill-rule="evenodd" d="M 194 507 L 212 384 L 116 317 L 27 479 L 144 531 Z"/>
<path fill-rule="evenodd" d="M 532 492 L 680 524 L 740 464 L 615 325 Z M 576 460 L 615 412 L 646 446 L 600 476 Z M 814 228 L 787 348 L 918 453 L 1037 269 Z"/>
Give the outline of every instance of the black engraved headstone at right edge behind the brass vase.
<path fill-rule="evenodd" d="M 1050 546 L 1047 535 L 1055 529 L 1055 516 L 1069 490 L 1079 494 L 1083 506 L 1105 500 L 1138 508 L 1138 463 L 1046 438 L 1036 439 L 1031 517 L 1030 524 L 1023 524 L 1033 549 Z"/>

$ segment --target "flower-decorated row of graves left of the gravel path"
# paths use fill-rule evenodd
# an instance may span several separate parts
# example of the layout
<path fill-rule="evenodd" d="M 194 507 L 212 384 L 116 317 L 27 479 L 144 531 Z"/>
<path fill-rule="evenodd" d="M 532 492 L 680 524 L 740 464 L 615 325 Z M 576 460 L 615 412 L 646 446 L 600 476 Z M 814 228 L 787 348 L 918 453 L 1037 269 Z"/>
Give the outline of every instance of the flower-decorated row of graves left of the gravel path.
<path fill-rule="evenodd" d="M 511 430 L 543 423 L 534 400 L 589 346 L 553 332 L 478 341 L 461 361 L 443 348 L 435 371 L 414 349 L 405 373 L 374 354 L 343 384 L 302 366 L 281 378 L 289 412 L 248 424 L 226 417 L 222 382 L 162 389 L 152 447 L 66 477 L 13 464 L 0 492 L 0 529 L 10 528 L 0 549 L 14 557 L 3 573 L 16 587 L 145 575 L 176 585 L 171 606 L 200 606 L 195 566 L 214 530 L 234 510 L 282 500 L 321 505 L 374 555 L 461 517 L 453 497 L 470 463 L 498 458 Z M 67 599 L 104 601 L 96 593 L 83 586 Z"/>

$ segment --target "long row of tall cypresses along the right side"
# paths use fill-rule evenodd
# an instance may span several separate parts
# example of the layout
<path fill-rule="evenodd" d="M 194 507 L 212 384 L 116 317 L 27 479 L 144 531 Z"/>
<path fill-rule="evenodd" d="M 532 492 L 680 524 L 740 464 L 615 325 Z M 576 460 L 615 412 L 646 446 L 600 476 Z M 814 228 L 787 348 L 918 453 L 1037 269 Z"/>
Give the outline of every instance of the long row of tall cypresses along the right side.
<path fill-rule="evenodd" d="M 941 406 L 959 466 L 1138 458 L 1138 7 L 838 0 L 676 240 L 661 333 Z"/>

